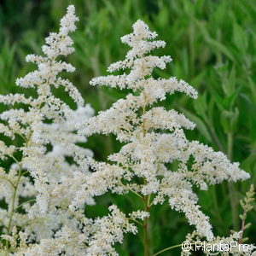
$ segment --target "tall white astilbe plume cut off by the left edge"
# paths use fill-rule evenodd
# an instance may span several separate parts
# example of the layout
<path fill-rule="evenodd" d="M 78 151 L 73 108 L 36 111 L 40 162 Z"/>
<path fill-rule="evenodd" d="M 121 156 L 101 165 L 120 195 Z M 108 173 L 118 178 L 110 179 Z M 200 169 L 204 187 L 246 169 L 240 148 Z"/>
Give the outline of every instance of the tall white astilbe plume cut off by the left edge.
<path fill-rule="evenodd" d="M 23 241 L 41 241 L 40 246 L 48 244 L 46 250 L 49 250 L 49 244 L 55 243 L 55 240 L 51 241 L 53 236 L 64 239 L 60 231 L 64 226 L 74 234 L 70 235 L 73 244 L 79 241 L 79 236 L 85 236 L 79 229 L 79 221 L 73 218 L 70 205 L 79 186 L 90 176 L 86 159 L 88 155 L 92 156 L 89 149 L 77 145 L 86 142 L 86 138 L 76 132 L 76 124 L 88 119 L 93 109 L 84 104 L 79 90 L 70 81 L 58 76 L 63 71 L 74 71 L 71 64 L 58 60 L 59 56 L 69 55 L 74 50 L 73 40 L 69 37 L 69 33 L 76 29 L 75 21 L 79 20 L 74 11 L 70 5 L 61 19 L 59 32 L 52 32 L 46 38 L 43 56 L 26 56 L 26 61 L 35 63 L 38 69 L 17 79 L 16 84 L 25 89 L 34 88 L 37 96 L 0 96 L 0 102 L 14 107 L 0 113 L 1 133 L 13 140 L 13 145 L 9 145 L 10 140 L 0 142 L 0 159 L 4 166 L 0 167 L 0 200 L 7 204 L 0 209 L 0 227 L 5 234 L 0 251 L 19 254 L 24 249 Z M 77 108 L 70 108 L 56 97 L 51 91 L 52 86 L 63 86 Z M 13 164 L 9 165 L 11 160 Z M 14 227 L 20 235 L 16 231 L 12 235 Z M 21 241 L 19 236 L 23 237 L 22 246 L 17 242 L 17 239 Z M 58 247 L 58 244 L 54 246 Z M 61 245 L 58 248 L 61 250 Z M 81 255 L 79 253 L 77 255 Z M 68 250 L 66 254 L 74 255 Z M 19 255 L 39 253 L 27 251 Z M 42 255 L 54 254 L 48 251 Z"/>

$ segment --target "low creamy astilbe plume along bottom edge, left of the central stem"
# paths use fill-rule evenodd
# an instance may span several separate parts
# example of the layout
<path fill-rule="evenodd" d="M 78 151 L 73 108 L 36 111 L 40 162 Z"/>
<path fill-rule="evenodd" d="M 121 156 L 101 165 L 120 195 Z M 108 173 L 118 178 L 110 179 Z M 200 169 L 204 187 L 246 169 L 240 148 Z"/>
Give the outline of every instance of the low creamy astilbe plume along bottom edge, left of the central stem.
<path fill-rule="evenodd" d="M 134 212 L 126 218 L 116 206 L 109 207 L 110 213 L 103 218 L 84 218 L 83 213 L 74 216 L 74 222 L 79 225 L 78 230 L 67 225 L 55 233 L 52 239 L 42 239 L 39 244 L 22 247 L 16 256 L 58 256 L 61 253 L 70 256 L 105 256 L 118 255 L 114 243 L 122 242 L 125 233 L 137 233 L 137 227 L 129 219 L 145 218 L 147 212 Z M 78 213 L 78 212 L 77 212 Z"/>

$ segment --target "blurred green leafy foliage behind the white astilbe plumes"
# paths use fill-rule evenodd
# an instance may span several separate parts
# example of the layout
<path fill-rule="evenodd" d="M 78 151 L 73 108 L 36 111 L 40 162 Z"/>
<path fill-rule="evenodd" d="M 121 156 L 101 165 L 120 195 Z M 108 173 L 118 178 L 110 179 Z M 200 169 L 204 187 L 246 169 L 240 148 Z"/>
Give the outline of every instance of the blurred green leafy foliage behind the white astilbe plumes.
<path fill-rule="evenodd" d="M 74 4 L 80 21 L 73 33 L 76 52 L 68 57 L 77 68 L 68 77 L 77 84 L 86 102 L 96 112 L 107 109 L 124 91 L 89 85 L 92 77 L 106 74 L 113 61 L 124 59 L 128 47 L 120 37 L 131 32 L 141 19 L 166 41 L 159 55 L 172 55 L 173 62 L 156 76 L 177 76 L 199 90 L 197 100 L 176 94 L 167 98 L 166 108 L 176 108 L 197 125 L 187 132 L 241 162 L 250 180 L 228 186 L 221 184 L 198 191 L 202 210 L 210 216 L 215 235 L 227 236 L 239 228 L 238 201 L 250 183 L 256 183 L 256 1 L 255 0 L 12 0 L 0 2 L 0 93 L 17 92 L 15 78 L 34 67 L 25 63 L 28 53 L 40 53 L 44 37 L 55 31 L 68 4 Z M 63 92 L 57 91 L 60 96 Z M 115 137 L 94 136 L 86 147 L 98 160 L 116 152 Z M 106 214 L 117 204 L 125 212 L 142 207 L 132 195 L 105 195 L 89 217 Z M 246 236 L 256 242 L 256 206 L 249 213 L 252 223 Z M 182 214 L 167 205 L 153 207 L 150 241 L 154 252 L 184 240 L 193 230 Z M 233 215 L 232 215 L 233 214 Z M 235 214 L 235 215 L 234 215 Z M 142 238 L 141 238 L 142 239 Z M 120 255 L 142 255 L 142 244 L 127 236 L 119 246 Z M 130 253 L 128 253 L 130 252 Z M 163 255 L 177 255 L 179 249 Z"/>

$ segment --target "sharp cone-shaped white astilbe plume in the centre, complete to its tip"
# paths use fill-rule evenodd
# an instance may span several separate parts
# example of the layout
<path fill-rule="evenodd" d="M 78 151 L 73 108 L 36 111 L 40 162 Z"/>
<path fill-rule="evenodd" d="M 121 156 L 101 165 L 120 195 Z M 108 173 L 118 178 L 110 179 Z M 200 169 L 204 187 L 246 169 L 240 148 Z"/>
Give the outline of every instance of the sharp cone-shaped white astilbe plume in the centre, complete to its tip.
<path fill-rule="evenodd" d="M 105 164 L 107 169 L 102 163 L 91 161 L 96 172 L 90 182 L 86 181 L 84 188 L 77 192 L 73 208 L 83 207 L 83 202 L 87 202 L 90 195 L 101 195 L 107 189 L 118 193 L 131 190 L 147 202 L 148 211 L 153 204 L 167 200 L 172 209 L 184 212 L 189 224 L 195 225 L 201 236 L 212 240 L 212 226 L 197 205 L 193 185 L 207 189 L 208 184 L 224 180 L 236 182 L 247 179 L 249 175 L 223 153 L 214 152 L 201 143 L 190 142 L 183 129 L 194 129 L 195 125 L 182 113 L 154 107 L 155 102 L 165 100 L 166 94 L 176 91 L 197 97 L 195 89 L 183 80 L 153 78 L 154 67 L 165 69 L 166 64 L 172 61 L 170 56 L 149 55 L 151 50 L 166 45 L 163 41 L 154 40 L 156 37 L 157 34 L 150 32 L 142 20 L 137 20 L 133 32 L 121 38 L 122 43 L 131 47 L 125 60 L 108 67 L 110 73 L 118 70 L 124 70 L 124 73 L 90 81 L 91 85 L 129 89 L 133 94 L 79 124 L 81 135 L 113 133 L 125 145 L 119 153 L 108 156 L 112 164 Z M 178 162 L 176 169 L 170 168 L 174 161 Z"/>

